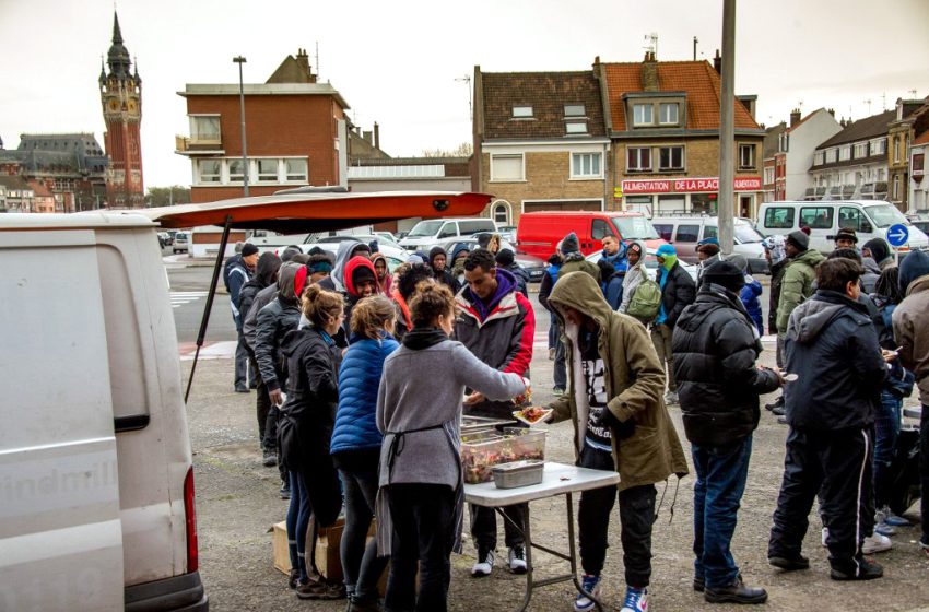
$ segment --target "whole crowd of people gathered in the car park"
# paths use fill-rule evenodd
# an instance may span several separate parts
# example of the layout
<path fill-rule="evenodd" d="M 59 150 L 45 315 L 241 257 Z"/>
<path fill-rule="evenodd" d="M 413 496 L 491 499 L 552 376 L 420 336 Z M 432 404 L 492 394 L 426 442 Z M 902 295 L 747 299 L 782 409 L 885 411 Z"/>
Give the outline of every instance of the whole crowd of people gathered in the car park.
<path fill-rule="evenodd" d="M 696 279 L 672 245 L 657 249 L 654 275 L 642 243 L 608 236 L 596 263 L 573 233 L 557 245 L 539 289 L 551 319 L 550 419 L 572 421 L 578 466 L 621 475 L 615 490 L 580 498 L 576 611 L 596 605 L 616 501 L 622 611 L 647 610 L 655 485 L 689 471 L 669 416 L 675 404 L 696 472 L 693 588 L 708 602 L 767 600 L 743 582 L 730 542 L 760 396 L 777 389 L 766 408 L 789 431 L 771 565 L 810 566 L 801 542 L 818 498 L 831 577 L 882 576 L 866 555 L 890 548 L 895 527 L 908 523 L 892 509 L 903 398 L 916 385 L 929 403 L 929 256 L 915 251 L 897 267 L 880 238 L 859 250 L 855 232 L 843 229 L 836 242 L 825 257 L 808 232 L 765 240 L 773 368 L 757 363 L 761 283 L 715 239 L 699 245 Z M 334 258 L 295 247 L 259 257 L 245 245 L 226 276 L 246 355 L 244 367 L 236 357 L 235 389 L 254 382 L 263 461 L 278 467 L 290 498 L 291 588 L 302 599 L 348 597 L 354 611 L 445 610 L 463 527 L 460 419 L 509 419 L 513 398 L 530 386 L 536 313 L 514 254 L 491 236 L 477 248 L 418 252 L 391 273 L 376 243 L 344 240 Z M 926 414 L 924 405 L 924 490 Z M 525 573 L 526 506 L 499 510 L 502 564 Z M 922 510 L 929 553 L 925 498 Z M 332 585 L 316 570 L 313 546 L 340 513 L 344 580 Z M 495 566 L 496 516 L 470 508 L 474 578 Z"/>

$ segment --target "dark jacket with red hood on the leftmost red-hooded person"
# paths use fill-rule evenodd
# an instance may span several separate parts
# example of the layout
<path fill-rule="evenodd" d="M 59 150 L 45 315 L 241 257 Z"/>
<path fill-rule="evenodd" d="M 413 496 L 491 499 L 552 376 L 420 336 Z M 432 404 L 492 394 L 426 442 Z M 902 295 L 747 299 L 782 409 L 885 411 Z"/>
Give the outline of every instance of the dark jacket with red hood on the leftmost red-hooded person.
<path fill-rule="evenodd" d="M 299 322 L 299 302 L 294 280 L 297 271 L 304 268 L 299 263 L 287 262 L 281 267 L 278 276 L 278 297 L 261 308 L 255 330 L 255 358 L 258 372 L 269 391 L 284 387 L 286 364 L 281 353 L 284 336 L 297 328 Z"/>

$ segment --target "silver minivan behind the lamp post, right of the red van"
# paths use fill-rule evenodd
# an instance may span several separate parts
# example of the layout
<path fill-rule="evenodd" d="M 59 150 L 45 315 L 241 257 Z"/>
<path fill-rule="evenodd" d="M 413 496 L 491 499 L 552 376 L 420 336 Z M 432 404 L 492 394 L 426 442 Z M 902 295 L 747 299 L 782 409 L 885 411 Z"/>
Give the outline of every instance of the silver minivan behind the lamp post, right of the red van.
<path fill-rule="evenodd" d="M 674 245 L 678 257 L 689 263 L 699 261 L 696 249 L 701 240 L 719 238 L 719 219 L 705 214 L 655 216 L 651 219 L 651 225 L 659 236 Z M 745 256 L 750 274 L 767 273 L 767 259 L 762 245 L 764 236 L 759 234 L 746 219 L 736 217 L 733 225 L 736 244 L 732 251 Z"/>

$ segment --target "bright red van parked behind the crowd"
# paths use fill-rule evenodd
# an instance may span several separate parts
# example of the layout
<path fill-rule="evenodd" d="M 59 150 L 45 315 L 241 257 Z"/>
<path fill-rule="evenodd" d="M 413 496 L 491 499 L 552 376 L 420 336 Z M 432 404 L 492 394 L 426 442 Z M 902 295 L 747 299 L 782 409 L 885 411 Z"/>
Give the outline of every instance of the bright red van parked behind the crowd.
<path fill-rule="evenodd" d="M 519 216 L 516 231 L 519 250 L 548 259 L 568 232 L 577 234 L 580 251 L 587 256 L 600 250 L 609 235 L 623 240 L 644 242 L 649 249 L 667 244 L 640 212 L 552 211 L 527 212 Z"/>

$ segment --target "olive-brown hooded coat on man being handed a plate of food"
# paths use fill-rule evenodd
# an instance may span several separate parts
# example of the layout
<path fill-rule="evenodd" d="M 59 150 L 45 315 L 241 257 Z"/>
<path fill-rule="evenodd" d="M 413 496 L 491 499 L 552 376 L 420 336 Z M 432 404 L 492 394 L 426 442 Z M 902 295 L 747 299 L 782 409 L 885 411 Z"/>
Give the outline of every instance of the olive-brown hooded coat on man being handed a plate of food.
<path fill-rule="evenodd" d="M 632 317 L 613 311 L 603 299 L 597 281 L 589 274 L 574 273 L 560 278 L 549 302 L 575 308 L 591 317 L 599 327 L 597 348 L 605 366 L 604 386 L 610 398 L 607 410 L 622 423 L 628 420 L 635 423 L 630 437 L 612 437 L 620 491 L 654 484 L 671 474 L 685 475 L 687 462 L 662 399 L 665 370 L 658 363 L 645 327 Z M 589 405 L 577 345 L 578 328 L 567 323 L 561 314 L 557 317 L 567 338 L 565 363 L 569 392 L 556 399 L 550 408 L 554 409 L 554 421 L 571 419 L 575 433 L 575 457 L 579 458 Z"/>

